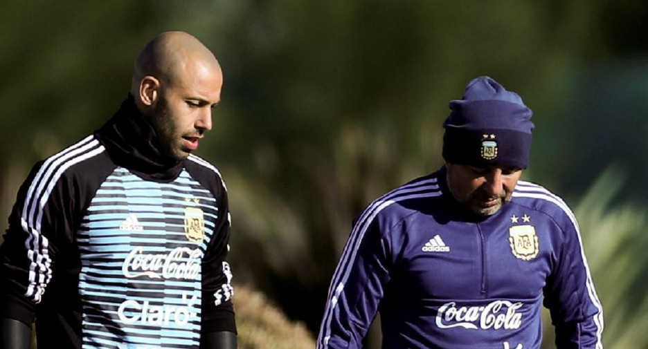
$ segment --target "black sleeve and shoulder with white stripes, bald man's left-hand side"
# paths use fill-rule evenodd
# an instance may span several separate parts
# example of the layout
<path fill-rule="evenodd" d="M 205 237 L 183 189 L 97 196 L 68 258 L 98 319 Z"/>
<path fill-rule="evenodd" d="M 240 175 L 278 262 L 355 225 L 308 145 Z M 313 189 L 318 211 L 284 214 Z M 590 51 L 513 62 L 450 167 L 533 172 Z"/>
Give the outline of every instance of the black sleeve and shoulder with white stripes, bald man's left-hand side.
<path fill-rule="evenodd" d="M 56 277 L 59 252 L 69 258 L 89 191 L 100 182 L 94 175 L 113 166 L 98 169 L 95 155 L 101 152 L 98 142 L 86 138 L 35 164 L 21 185 L 0 246 L 0 319 L 33 323 L 36 304 Z"/>

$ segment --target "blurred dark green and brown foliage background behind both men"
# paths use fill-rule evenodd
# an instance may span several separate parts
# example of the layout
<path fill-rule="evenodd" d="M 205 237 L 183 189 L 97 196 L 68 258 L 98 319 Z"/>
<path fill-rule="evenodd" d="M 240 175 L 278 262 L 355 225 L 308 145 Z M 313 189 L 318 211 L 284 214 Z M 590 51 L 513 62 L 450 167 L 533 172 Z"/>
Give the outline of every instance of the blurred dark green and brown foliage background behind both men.
<path fill-rule="evenodd" d="M 645 349 L 647 27 L 636 0 L 1 1 L 0 212 L 116 111 L 147 41 L 186 30 L 224 69 L 198 155 L 231 198 L 240 347 L 312 348 L 352 219 L 440 167 L 449 100 L 490 75 L 534 111 L 524 178 L 577 214 L 606 348 Z"/>

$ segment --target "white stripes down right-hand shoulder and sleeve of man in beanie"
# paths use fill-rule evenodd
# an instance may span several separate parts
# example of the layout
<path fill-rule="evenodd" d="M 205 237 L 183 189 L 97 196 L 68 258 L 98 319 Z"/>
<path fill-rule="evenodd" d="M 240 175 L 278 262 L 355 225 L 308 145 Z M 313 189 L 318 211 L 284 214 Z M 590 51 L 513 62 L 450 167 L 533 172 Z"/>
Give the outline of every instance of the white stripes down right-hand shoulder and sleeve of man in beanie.
<path fill-rule="evenodd" d="M 524 180 L 518 181 L 515 190 L 513 192 L 513 197 L 514 198 L 532 198 L 532 199 L 538 199 L 538 200 L 544 200 L 547 202 L 551 202 L 552 204 L 556 205 L 559 207 L 564 213 L 568 216 L 570 223 L 572 223 L 576 236 L 578 238 L 578 243 L 580 247 L 580 252 L 581 252 L 581 258 L 585 266 L 585 272 L 586 272 L 586 287 L 587 287 L 587 293 L 589 296 L 590 301 L 593 303 L 593 305 L 597 308 L 598 314 L 595 315 L 594 317 L 594 323 L 597 328 L 596 331 L 596 337 L 597 337 L 597 342 L 596 342 L 596 349 L 603 349 L 603 341 L 602 341 L 602 333 L 603 333 L 603 328 L 604 328 L 604 323 L 603 323 L 603 307 L 601 305 L 601 301 L 598 298 L 598 295 L 596 294 L 596 290 L 594 288 L 594 283 L 592 281 L 592 276 L 590 272 L 589 265 L 587 263 L 587 258 L 585 257 L 585 249 L 583 248 L 583 241 L 581 238 L 580 234 L 580 228 L 578 226 L 578 222 L 576 220 L 576 216 L 574 213 L 571 211 L 571 209 L 567 206 L 567 204 L 559 198 L 559 196 L 556 196 L 555 194 L 552 194 L 550 191 L 542 187 L 541 185 L 534 184 L 532 182 L 527 182 Z"/>

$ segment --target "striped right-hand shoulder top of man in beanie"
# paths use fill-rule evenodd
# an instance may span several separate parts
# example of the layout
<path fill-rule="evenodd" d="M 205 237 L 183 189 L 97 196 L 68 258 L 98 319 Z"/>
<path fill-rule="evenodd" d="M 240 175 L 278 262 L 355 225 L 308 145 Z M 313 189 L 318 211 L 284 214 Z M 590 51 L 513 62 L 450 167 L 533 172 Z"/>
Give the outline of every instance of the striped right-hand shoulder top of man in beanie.
<path fill-rule="evenodd" d="M 577 226 L 575 215 L 566 202 L 541 185 L 520 180 L 513 191 L 512 200 L 552 217 L 559 225 L 567 223 Z"/>

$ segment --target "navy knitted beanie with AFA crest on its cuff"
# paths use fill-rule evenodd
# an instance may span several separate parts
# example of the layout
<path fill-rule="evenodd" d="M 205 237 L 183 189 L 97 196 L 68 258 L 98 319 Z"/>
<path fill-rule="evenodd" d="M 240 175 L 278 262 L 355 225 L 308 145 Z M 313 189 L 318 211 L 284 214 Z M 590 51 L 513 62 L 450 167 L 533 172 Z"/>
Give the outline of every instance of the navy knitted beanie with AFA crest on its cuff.
<path fill-rule="evenodd" d="M 490 77 L 478 77 L 468 83 L 461 100 L 450 102 L 450 110 L 443 122 L 447 162 L 528 167 L 532 111 L 517 93 Z"/>

